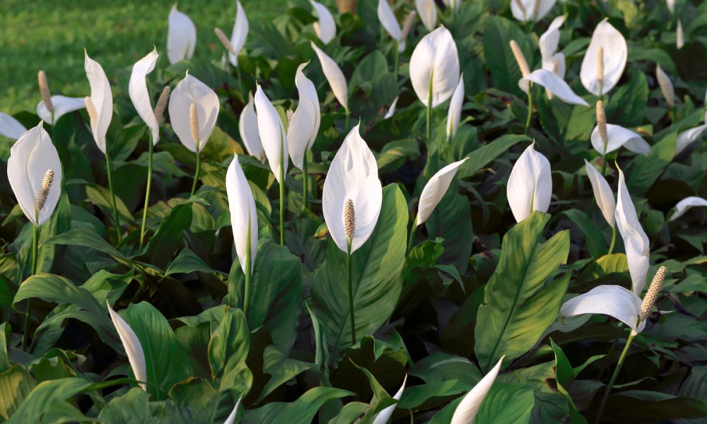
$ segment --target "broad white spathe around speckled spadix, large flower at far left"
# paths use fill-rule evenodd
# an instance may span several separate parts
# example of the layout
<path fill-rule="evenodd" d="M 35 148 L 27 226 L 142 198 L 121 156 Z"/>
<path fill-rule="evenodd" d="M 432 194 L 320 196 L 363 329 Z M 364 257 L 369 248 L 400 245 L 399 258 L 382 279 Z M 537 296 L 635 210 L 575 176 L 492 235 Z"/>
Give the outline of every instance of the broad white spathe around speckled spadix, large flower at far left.
<path fill-rule="evenodd" d="M 37 194 L 40 193 L 42 179 L 47 170 L 54 171 L 54 182 L 44 207 L 36 213 Z M 62 193 L 62 163 L 59 161 L 57 148 L 54 147 L 52 139 L 49 139 L 42 122 L 22 134 L 10 148 L 7 178 L 27 219 L 34 225 L 47 222 L 54 213 Z"/>

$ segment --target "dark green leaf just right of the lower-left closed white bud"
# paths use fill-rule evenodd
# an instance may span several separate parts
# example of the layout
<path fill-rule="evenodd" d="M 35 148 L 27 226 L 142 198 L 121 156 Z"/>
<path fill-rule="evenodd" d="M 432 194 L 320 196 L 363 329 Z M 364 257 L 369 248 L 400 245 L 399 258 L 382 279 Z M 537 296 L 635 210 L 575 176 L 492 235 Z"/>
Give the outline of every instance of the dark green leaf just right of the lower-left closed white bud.
<path fill-rule="evenodd" d="M 189 358 L 167 319 L 148 302 L 131 304 L 125 320 L 135 331 L 145 353 L 147 391 L 163 400 L 173 385 L 192 375 Z"/>

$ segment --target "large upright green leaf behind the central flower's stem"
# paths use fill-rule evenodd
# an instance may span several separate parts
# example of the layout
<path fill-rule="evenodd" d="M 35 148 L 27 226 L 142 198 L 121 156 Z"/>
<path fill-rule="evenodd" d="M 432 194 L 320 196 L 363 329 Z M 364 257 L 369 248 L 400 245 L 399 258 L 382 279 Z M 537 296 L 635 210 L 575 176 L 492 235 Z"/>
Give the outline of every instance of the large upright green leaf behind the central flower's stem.
<path fill-rule="evenodd" d="M 378 223 L 368 241 L 351 255 L 356 336 L 373 334 L 392 314 L 402 289 L 408 211 L 397 185 L 383 189 Z M 326 327 L 329 347 L 338 355 L 351 343 L 346 254 L 334 241 L 315 274 L 312 300 Z"/>

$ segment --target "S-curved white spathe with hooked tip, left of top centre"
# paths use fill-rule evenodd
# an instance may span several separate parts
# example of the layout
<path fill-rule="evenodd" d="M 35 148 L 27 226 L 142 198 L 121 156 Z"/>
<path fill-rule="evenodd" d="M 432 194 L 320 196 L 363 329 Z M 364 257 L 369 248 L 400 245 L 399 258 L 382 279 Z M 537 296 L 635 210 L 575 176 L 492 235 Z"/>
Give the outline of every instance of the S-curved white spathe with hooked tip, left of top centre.
<path fill-rule="evenodd" d="M 290 126 L 287 129 L 287 146 L 295 167 L 302 169 L 307 152 L 317 138 L 321 121 L 317 88 L 303 73 L 309 62 L 300 64 L 295 74 L 295 85 L 299 95 L 297 110 L 292 114 Z"/>

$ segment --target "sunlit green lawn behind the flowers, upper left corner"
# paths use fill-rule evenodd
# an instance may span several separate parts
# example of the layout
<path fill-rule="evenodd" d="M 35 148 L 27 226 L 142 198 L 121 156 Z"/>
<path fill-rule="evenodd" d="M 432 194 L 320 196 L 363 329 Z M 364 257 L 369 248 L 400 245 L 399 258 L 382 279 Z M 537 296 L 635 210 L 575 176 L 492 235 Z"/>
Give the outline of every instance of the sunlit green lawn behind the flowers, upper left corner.
<path fill-rule="evenodd" d="M 52 94 L 84 96 L 90 87 L 83 49 L 108 78 L 150 52 L 167 66 L 169 0 L 1 0 L 0 112 L 35 111 L 40 93 L 37 71 L 44 69 Z M 284 12 L 286 0 L 241 0 L 252 23 Z M 195 59 L 220 59 L 223 47 L 214 27 L 233 29 L 235 0 L 181 0 L 177 8 L 197 27 Z M 127 89 L 127 88 L 126 88 Z"/>

